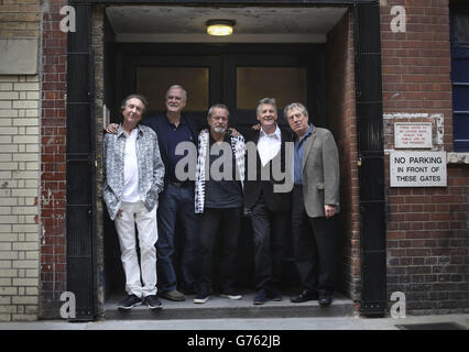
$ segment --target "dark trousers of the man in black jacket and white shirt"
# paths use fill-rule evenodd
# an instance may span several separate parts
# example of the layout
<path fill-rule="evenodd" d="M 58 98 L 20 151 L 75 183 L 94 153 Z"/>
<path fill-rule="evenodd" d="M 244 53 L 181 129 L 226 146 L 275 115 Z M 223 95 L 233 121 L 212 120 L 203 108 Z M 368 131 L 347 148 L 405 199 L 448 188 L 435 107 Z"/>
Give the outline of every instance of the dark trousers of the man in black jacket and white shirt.
<path fill-rule="evenodd" d="M 255 288 L 277 289 L 282 276 L 288 211 L 270 211 L 263 196 L 251 209 Z"/>

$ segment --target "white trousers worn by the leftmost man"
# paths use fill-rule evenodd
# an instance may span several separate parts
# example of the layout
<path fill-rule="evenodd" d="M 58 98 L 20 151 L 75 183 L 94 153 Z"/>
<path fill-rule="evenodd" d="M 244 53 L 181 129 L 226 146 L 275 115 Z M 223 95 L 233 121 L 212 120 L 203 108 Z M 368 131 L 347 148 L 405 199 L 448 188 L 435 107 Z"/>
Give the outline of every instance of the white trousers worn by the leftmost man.
<path fill-rule="evenodd" d="M 129 295 L 134 294 L 138 297 L 156 295 L 156 208 L 157 204 L 153 210 L 149 211 L 142 201 L 122 202 L 122 216 L 116 217 L 114 220 L 126 273 L 126 292 Z M 137 255 L 135 223 L 139 234 L 140 265 Z"/>

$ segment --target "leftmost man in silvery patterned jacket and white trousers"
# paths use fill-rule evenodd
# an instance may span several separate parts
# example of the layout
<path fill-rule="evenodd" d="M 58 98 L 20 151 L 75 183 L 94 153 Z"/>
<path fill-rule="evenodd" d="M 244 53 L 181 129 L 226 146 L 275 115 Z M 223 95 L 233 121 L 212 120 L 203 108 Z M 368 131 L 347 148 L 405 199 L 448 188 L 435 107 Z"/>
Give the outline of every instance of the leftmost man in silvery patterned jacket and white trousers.
<path fill-rule="evenodd" d="M 119 235 L 128 293 L 118 305 L 121 309 L 132 309 L 142 302 L 150 309 L 162 307 L 156 298 L 155 243 L 156 208 L 164 186 L 164 164 L 156 133 L 139 124 L 145 108 L 146 100 L 142 96 L 127 97 L 121 106 L 123 122 L 118 133 L 106 134 L 103 140 L 102 194 Z M 135 249 L 135 223 L 141 265 Z"/>

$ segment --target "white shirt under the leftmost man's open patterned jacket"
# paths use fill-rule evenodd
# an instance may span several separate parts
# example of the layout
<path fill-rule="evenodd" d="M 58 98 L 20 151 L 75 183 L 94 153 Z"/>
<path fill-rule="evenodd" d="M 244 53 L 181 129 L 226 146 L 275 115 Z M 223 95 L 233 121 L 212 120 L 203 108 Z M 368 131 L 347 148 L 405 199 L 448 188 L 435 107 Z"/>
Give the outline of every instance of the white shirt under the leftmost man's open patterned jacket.
<path fill-rule="evenodd" d="M 130 135 L 126 133 L 122 201 L 128 201 L 128 202 L 137 202 L 140 200 L 139 162 L 137 160 L 138 133 L 139 133 L 139 129 L 133 129 L 132 132 L 130 132 Z"/>

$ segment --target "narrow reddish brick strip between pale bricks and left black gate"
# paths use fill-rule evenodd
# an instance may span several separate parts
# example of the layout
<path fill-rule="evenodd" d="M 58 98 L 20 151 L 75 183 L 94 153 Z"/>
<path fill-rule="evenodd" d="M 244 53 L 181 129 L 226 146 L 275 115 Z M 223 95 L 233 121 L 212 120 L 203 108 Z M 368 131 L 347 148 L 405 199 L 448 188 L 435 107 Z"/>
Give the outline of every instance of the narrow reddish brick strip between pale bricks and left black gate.
<path fill-rule="evenodd" d="M 64 0 L 43 1 L 41 111 L 41 318 L 59 317 L 66 290 L 66 59 Z"/>

